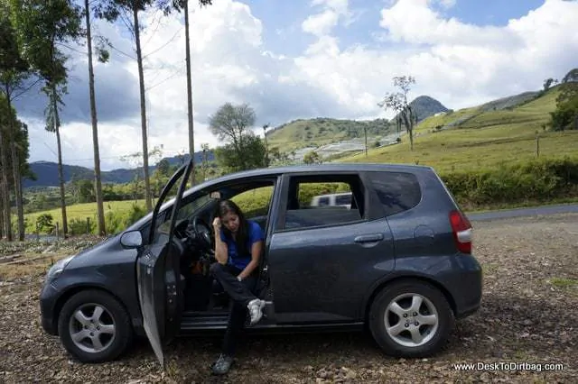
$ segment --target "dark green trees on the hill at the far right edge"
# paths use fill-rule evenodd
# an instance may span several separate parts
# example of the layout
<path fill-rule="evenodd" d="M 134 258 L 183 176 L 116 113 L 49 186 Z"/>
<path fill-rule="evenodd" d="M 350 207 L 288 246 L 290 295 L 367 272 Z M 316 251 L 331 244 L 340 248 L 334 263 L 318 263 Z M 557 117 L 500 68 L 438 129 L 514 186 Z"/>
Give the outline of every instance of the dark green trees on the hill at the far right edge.
<path fill-rule="evenodd" d="M 560 84 L 556 109 L 550 113 L 552 129 L 555 131 L 578 130 L 578 68 L 569 71 Z"/>

